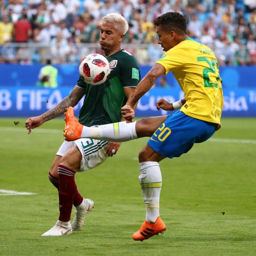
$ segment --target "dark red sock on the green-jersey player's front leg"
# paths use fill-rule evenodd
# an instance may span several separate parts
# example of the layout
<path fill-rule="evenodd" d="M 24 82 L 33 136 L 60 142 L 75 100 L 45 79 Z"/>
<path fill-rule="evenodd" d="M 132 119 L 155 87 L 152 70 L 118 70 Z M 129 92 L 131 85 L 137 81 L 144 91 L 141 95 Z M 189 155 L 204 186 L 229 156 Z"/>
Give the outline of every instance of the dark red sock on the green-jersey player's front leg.
<path fill-rule="evenodd" d="M 59 220 L 70 221 L 74 195 L 77 187 L 75 172 L 66 166 L 58 166 L 59 178 Z"/>

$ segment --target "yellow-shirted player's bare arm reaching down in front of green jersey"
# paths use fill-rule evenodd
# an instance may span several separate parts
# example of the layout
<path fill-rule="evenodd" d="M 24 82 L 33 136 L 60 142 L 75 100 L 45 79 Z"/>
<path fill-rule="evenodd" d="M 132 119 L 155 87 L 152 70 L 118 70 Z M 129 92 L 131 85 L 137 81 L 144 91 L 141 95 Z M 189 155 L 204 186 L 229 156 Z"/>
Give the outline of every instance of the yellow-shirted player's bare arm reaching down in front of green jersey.
<path fill-rule="evenodd" d="M 131 121 L 134 118 L 134 106 L 136 103 L 148 90 L 152 88 L 156 79 L 164 74 L 165 68 L 159 63 L 156 63 L 153 68 L 148 71 L 144 78 L 139 82 L 131 98 L 127 100 L 127 103 L 121 109 L 122 116 L 126 120 Z"/>

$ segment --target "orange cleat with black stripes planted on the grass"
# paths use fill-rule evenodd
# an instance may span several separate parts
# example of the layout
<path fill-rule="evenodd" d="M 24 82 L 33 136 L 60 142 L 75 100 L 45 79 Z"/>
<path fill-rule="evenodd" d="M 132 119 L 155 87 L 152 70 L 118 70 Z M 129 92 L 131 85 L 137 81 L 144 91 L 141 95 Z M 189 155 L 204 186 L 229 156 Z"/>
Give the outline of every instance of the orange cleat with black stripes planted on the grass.
<path fill-rule="evenodd" d="M 141 225 L 140 230 L 133 234 L 133 239 L 142 242 L 143 240 L 151 238 L 156 234 L 163 233 L 165 230 L 166 226 L 158 216 L 155 223 L 145 221 Z"/>

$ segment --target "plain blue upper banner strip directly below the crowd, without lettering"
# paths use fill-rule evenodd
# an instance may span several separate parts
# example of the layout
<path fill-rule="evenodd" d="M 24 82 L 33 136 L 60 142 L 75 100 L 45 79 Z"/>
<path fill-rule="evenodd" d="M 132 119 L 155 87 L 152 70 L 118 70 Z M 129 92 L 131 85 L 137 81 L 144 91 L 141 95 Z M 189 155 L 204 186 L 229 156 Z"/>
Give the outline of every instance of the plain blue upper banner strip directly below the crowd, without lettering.
<path fill-rule="evenodd" d="M 43 65 L 10 65 L 0 64 L 0 87 L 34 87 L 38 81 L 38 74 Z M 73 87 L 79 78 L 77 65 L 54 65 L 58 70 L 58 86 Z M 151 69 L 151 66 L 140 66 L 141 77 Z M 220 67 L 220 76 L 224 89 L 256 88 L 254 78 L 255 66 Z M 172 72 L 166 75 L 166 81 L 173 89 L 179 88 L 179 84 Z M 157 86 L 159 80 L 156 81 Z"/>

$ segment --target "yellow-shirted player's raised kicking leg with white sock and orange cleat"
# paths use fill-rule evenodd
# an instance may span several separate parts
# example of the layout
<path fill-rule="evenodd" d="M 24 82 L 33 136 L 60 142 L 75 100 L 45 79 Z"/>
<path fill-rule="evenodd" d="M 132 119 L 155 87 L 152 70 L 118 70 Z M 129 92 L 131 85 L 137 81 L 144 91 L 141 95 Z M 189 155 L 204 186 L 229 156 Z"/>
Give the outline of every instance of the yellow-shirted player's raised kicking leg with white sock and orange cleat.
<path fill-rule="evenodd" d="M 133 123 L 118 122 L 87 127 L 81 125 L 69 108 L 66 113 L 65 136 L 67 140 L 93 138 L 108 141 L 129 141 L 141 137 L 150 137 L 164 122 L 167 116 L 143 118 Z"/>

